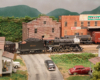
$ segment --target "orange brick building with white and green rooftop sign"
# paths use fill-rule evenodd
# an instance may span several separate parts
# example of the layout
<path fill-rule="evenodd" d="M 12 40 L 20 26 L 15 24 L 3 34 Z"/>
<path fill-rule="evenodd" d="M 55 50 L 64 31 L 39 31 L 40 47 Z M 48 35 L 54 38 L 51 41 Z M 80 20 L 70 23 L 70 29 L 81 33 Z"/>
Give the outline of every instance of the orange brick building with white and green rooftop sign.
<path fill-rule="evenodd" d="M 60 16 L 61 36 L 87 35 L 100 31 L 100 14 L 81 14 Z"/>

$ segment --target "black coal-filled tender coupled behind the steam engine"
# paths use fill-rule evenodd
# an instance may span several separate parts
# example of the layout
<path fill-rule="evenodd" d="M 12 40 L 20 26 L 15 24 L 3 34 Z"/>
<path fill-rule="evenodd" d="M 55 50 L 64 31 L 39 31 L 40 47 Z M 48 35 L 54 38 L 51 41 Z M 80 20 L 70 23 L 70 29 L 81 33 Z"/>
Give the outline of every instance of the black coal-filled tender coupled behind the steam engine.
<path fill-rule="evenodd" d="M 43 50 L 45 50 L 44 42 L 37 38 L 28 38 L 18 43 L 18 51 L 22 54 L 31 52 L 40 53 Z"/>

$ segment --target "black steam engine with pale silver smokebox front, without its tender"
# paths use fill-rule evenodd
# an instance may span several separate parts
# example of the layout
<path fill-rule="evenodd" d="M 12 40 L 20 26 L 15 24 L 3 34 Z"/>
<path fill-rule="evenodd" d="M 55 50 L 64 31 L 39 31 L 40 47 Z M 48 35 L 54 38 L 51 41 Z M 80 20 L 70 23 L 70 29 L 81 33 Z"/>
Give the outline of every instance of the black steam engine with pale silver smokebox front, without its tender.
<path fill-rule="evenodd" d="M 56 38 L 45 43 L 46 50 L 51 50 L 52 52 L 82 51 L 79 46 L 80 39 L 76 37 L 74 39 Z"/>

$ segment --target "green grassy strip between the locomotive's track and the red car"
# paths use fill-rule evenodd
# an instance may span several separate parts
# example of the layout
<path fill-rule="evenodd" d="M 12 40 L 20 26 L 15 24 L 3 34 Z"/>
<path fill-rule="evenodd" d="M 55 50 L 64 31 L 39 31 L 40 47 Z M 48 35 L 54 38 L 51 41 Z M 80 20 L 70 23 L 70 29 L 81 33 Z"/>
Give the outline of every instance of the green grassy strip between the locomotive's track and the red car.
<path fill-rule="evenodd" d="M 88 62 L 88 59 L 95 57 L 94 54 L 91 53 L 82 53 L 82 54 L 64 54 L 64 55 L 54 55 L 51 56 L 52 60 L 55 63 L 84 63 Z"/>

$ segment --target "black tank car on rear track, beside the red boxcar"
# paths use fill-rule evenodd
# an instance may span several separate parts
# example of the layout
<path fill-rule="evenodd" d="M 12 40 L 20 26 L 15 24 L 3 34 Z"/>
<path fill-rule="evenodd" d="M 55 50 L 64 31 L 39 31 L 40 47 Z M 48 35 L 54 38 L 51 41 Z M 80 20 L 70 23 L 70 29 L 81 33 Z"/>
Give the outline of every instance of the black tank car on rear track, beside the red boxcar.
<path fill-rule="evenodd" d="M 91 44 L 92 43 L 92 37 L 90 35 L 68 35 L 65 36 L 65 39 L 73 39 L 74 37 L 77 37 L 80 39 L 80 43 L 82 44 Z"/>

